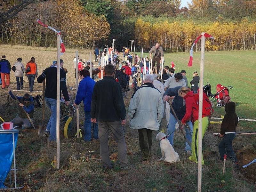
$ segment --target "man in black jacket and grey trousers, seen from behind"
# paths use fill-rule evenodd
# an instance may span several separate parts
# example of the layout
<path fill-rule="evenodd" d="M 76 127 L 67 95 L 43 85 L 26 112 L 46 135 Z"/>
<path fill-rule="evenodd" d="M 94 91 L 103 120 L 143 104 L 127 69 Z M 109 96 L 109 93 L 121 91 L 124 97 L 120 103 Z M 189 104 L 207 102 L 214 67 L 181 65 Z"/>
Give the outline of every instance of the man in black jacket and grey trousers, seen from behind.
<path fill-rule="evenodd" d="M 105 76 L 96 82 L 92 93 L 91 121 L 98 122 L 100 139 L 100 158 L 103 167 L 111 168 L 108 152 L 108 130 L 114 135 L 118 147 L 121 169 L 128 167 L 126 143 L 122 125 L 126 124 L 125 107 L 121 86 L 113 77 L 114 66 L 105 66 Z"/>

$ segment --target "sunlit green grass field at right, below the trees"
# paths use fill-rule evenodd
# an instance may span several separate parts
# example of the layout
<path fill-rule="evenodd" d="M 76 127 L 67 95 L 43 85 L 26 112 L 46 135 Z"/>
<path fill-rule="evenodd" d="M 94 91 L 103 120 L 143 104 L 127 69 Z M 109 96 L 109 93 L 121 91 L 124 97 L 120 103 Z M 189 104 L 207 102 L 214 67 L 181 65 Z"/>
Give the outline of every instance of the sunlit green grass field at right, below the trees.
<path fill-rule="evenodd" d="M 182 69 L 187 72 L 188 84 L 194 71 L 200 73 L 200 52 L 194 52 L 192 67 L 188 67 L 189 53 L 165 53 L 164 59 L 165 65 L 169 66 L 173 61 L 177 72 Z M 205 52 L 204 84 L 210 82 L 212 94 L 216 93 L 217 84 L 233 86 L 229 95 L 236 102 L 236 112 L 240 117 L 256 118 L 255 61 L 255 51 Z M 225 114 L 224 108 L 215 111 L 218 115 Z"/>

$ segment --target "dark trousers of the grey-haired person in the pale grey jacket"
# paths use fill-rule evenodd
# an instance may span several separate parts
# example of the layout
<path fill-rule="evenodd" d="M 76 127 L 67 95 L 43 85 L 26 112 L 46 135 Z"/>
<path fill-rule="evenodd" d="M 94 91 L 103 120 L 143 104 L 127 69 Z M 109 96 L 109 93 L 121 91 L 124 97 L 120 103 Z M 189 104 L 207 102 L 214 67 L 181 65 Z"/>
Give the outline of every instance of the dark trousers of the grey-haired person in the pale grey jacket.
<path fill-rule="evenodd" d="M 140 151 L 143 159 L 148 159 L 152 146 L 152 130 L 150 129 L 138 129 Z"/>

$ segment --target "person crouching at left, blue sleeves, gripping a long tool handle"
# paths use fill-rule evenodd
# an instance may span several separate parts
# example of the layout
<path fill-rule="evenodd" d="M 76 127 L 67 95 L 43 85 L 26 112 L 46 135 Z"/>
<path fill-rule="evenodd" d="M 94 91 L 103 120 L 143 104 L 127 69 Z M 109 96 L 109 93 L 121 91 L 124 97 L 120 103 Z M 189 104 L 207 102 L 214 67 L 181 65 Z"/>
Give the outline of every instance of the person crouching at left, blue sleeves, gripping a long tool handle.
<path fill-rule="evenodd" d="M 10 96 L 12 97 L 12 99 L 15 100 L 15 97 L 12 94 L 10 87 L 8 87 L 8 92 L 9 92 Z M 30 121 L 29 121 L 26 113 L 24 112 L 24 110 L 28 113 L 28 116 L 32 119 L 33 115 L 34 115 L 34 108 L 35 108 L 34 100 L 33 100 L 32 96 L 28 93 L 25 93 L 23 95 L 23 97 L 18 97 L 18 96 L 16 96 L 16 97 L 19 100 L 18 114 L 14 119 L 12 119 L 11 122 L 13 123 L 14 126 L 22 123 L 21 129 L 26 129 L 28 127 L 31 127 Z"/>

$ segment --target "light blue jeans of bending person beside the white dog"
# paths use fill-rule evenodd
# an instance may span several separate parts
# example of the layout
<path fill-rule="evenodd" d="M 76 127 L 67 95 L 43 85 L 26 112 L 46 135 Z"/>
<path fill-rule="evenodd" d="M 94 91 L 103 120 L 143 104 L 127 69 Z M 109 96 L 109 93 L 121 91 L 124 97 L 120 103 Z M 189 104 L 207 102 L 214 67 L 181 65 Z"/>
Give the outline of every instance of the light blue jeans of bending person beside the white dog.
<path fill-rule="evenodd" d="M 169 125 L 167 128 L 167 135 L 169 135 L 169 137 L 167 137 L 167 139 L 170 141 L 171 145 L 173 146 L 173 136 L 174 136 L 174 130 L 175 130 L 175 124 L 177 123 L 176 118 L 172 115 L 172 113 L 170 113 L 170 119 L 169 119 Z M 188 126 L 190 127 L 190 129 L 186 128 L 186 138 L 189 140 L 189 142 L 192 142 L 192 133 L 193 133 L 193 124 L 191 121 L 187 122 Z M 185 151 L 191 151 L 191 147 L 189 146 L 188 142 L 185 142 Z"/>

